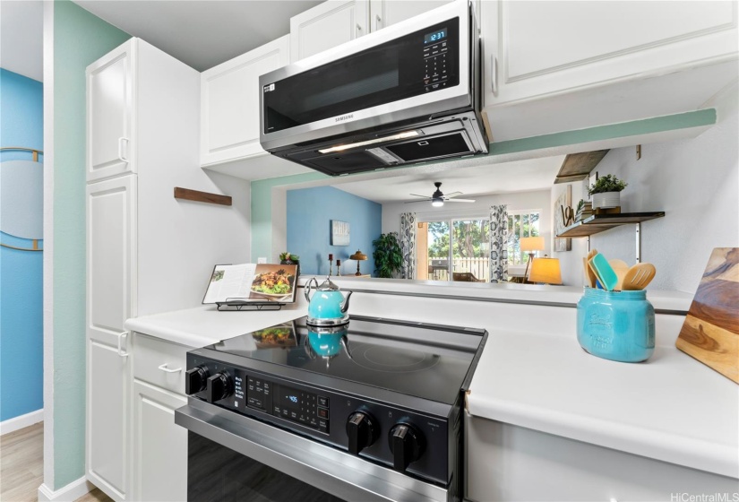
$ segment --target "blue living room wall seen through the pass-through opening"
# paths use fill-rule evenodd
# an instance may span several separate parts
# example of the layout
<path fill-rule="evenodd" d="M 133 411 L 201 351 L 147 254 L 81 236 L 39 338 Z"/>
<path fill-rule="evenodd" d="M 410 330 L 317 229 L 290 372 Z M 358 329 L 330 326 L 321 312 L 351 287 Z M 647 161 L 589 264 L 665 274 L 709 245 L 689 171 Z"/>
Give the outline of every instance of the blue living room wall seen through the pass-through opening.
<path fill-rule="evenodd" d="M 349 223 L 349 245 L 331 246 L 331 220 Z M 357 249 L 369 256 L 362 273 L 372 273 L 372 241 L 382 233 L 382 205 L 332 186 L 288 190 L 288 249 L 300 256 L 300 273 L 329 272 L 329 254 L 341 260 L 341 275 L 354 275 L 357 262 L 349 255 Z"/>

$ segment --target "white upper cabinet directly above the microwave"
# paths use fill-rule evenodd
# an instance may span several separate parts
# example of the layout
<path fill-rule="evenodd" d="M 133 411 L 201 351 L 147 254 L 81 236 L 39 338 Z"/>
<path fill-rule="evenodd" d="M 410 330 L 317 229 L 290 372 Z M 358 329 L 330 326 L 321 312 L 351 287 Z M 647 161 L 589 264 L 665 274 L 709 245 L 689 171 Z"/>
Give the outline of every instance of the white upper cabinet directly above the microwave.
<path fill-rule="evenodd" d="M 329 0 L 290 19 L 290 61 L 462 0 Z"/>

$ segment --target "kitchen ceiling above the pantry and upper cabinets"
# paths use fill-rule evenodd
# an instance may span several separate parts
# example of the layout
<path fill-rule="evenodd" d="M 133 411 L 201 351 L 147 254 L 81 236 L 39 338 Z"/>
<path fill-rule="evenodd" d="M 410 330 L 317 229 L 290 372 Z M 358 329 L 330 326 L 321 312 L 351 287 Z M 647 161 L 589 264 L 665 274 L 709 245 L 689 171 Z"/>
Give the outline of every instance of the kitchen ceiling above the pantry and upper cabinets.
<path fill-rule="evenodd" d="M 322 0 L 75 0 L 99 18 L 202 72 L 290 32 Z"/>

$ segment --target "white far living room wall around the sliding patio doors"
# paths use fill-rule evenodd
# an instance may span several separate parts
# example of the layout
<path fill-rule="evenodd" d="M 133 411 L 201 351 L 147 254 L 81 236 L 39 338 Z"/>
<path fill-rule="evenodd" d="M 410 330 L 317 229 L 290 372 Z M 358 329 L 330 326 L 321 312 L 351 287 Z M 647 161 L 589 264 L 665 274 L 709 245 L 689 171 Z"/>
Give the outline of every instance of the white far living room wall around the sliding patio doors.
<path fill-rule="evenodd" d="M 552 247 L 552 203 L 549 190 L 536 192 L 514 192 L 475 196 L 475 203 L 445 203 L 441 208 L 431 203 L 386 203 L 382 204 L 382 233 L 400 231 L 400 213 L 416 212 L 419 221 L 459 219 L 470 217 L 487 218 L 490 206 L 508 204 L 511 210 L 540 210 L 540 231 L 545 240 L 545 250 L 541 255 L 551 255 Z M 522 272 L 522 271 L 521 271 Z"/>

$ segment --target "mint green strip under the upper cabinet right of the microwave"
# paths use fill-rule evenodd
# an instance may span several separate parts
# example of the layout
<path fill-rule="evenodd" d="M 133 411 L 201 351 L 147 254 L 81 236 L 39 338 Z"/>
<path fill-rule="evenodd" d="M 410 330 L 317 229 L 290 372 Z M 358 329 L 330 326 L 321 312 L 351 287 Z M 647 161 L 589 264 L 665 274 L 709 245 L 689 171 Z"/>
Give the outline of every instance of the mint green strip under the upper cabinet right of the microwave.
<path fill-rule="evenodd" d="M 714 108 L 689 111 L 663 117 L 645 118 L 620 124 L 598 125 L 588 129 L 564 131 L 563 133 L 543 134 L 530 138 L 490 143 L 488 156 L 516 153 L 519 151 L 540 150 L 568 144 L 589 143 L 639 134 L 653 134 L 675 129 L 702 127 L 716 124 L 717 116 Z"/>

